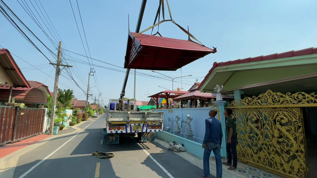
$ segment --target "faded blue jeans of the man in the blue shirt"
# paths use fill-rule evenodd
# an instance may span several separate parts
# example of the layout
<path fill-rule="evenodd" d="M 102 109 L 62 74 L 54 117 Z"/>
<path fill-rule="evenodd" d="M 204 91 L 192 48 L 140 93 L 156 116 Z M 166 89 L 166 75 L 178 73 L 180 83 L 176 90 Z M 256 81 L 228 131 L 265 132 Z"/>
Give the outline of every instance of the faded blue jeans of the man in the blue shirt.
<path fill-rule="evenodd" d="M 204 175 L 210 175 L 210 167 L 209 167 L 209 158 L 211 150 L 214 152 L 216 159 L 216 172 L 217 178 L 222 178 L 222 163 L 221 163 L 221 155 L 220 155 L 220 145 L 219 143 L 205 143 L 206 148 L 204 149 Z"/>

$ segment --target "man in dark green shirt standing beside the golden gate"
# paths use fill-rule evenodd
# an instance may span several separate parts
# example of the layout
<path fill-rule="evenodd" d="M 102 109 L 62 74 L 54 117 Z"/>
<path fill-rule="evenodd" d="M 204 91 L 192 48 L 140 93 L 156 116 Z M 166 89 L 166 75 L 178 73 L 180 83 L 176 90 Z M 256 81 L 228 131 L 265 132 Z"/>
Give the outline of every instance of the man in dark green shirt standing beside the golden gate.
<path fill-rule="evenodd" d="M 233 121 L 233 119 L 230 117 L 232 115 L 231 109 L 225 109 L 223 112 L 223 115 L 227 119 L 227 125 L 226 125 L 226 131 L 227 131 L 227 155 L 228 155 L 228 161 L 223 162 L 224 165 L 230 166 L 228 168 L 229 170 L 234 170 L 237 168 L 237 151 L 236 151 L 236 145 L 237 145 L 237 131 L 236 131 L 236 124 Z M 233 157 L 233 162 L 232 162 Z M 233 164 L 231 164 L 233 163 Z"/>

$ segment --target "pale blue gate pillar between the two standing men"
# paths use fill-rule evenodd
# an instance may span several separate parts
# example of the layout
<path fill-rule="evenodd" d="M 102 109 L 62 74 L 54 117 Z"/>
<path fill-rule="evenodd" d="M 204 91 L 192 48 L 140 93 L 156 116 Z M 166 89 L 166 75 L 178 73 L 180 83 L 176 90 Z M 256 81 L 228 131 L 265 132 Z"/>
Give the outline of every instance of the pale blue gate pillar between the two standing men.
<path fill-rule="evenodd" d="M 223 137 L 222 137 L 222 145 L 221 145 L 221 156 L 224 159 L 227 159 L 227 151 L 226 151 L 226 144 L 227 144 L 227 138 L 226 138 L 226 120 L 225 120 L 225 116 L 223 115 L 224 112 L 224 104 L 226 103 L 226 101 L 214 101 L 213 104 L 216 106 L 217 109 L 217 118 L 218 120 L 221 122 L 221 127 L 222 127 L 222 133 L 223 133 Z"/>

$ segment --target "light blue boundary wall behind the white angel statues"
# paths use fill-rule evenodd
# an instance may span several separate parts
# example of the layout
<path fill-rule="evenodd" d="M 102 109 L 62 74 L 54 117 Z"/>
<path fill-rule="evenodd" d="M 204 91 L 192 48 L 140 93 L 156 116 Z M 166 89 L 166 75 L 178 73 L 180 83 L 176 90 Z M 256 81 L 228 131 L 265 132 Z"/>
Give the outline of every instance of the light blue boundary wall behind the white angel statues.
<path fill-rule="evenodd" d="M 178 121 L 179 126 L 181 126 L 181 121 L 186 121 L 186 115 L 189 114 L 193 121 L 191 122 L 191 129 L 193 130 L 193 141 L 197 143 L 203 143 L 205 135 L 205 119 L 209 118 L 208 113 L 211 107 L 202 107 L 202 108 L 177 108 L 177 109 L 160 109 L 156 110 L 159 112 L 164 112 L 164 125 L 163 129 L 166 131 L 167 127 L 167 117 L 171 118 L 170 123 L 170 133 L 174 134 L 173 130 L 175 129 L 175 114 L 177 114 L 181 119 Z M 184 130 L 185 129 L 185 130 Z M 224 129 L 224 128 L 223 128 Z M 181 128 L 180 136 L 186 138 L 186 127 L 183 123 L 183 128 Z"/>

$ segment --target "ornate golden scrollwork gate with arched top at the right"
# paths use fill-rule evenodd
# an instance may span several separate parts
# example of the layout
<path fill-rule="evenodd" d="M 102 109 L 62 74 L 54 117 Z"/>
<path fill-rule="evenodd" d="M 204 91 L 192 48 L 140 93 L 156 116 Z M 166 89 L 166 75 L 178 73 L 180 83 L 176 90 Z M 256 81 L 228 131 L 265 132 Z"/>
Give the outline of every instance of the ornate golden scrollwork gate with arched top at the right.
<path fill-rule="evenodd" d="M 268 90 L 233 101 L 238 159 L 282 177 L 306 178 L 307 152 L 301 107 L 316 106 L 317 95 Z"/>

